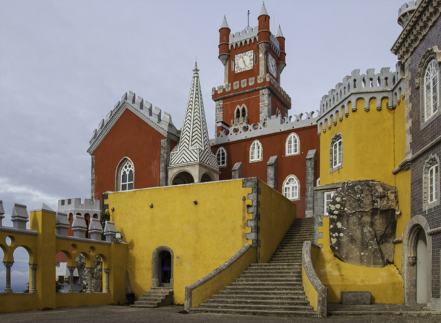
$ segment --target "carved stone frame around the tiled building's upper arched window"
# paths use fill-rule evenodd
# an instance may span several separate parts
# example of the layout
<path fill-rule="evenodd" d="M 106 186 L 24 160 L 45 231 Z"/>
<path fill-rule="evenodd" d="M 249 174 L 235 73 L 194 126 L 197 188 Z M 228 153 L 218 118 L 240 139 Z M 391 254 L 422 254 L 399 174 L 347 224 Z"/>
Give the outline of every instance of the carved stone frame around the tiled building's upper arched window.
<path fill-rule="evenodd" d="M 427 69 L 432 62 L 436 62 L 436 67 L 438 69 L 438 111 L 434 112 L 429 118 L 426 118 L 426 97 L 425 97 L 425 75 Z M 415 78 L 415 88 L 420 88 L 420 130 L 426 127 L 428 124 L 432 123 L 438 116 L 441 115 L 441 94 L 440 94 L 440 84 L 441 84 L 441 50 L 438 50 L 438 46 L 429 48 L 422 55 L 421 60 L 417 67 L 417 74 Z"/>

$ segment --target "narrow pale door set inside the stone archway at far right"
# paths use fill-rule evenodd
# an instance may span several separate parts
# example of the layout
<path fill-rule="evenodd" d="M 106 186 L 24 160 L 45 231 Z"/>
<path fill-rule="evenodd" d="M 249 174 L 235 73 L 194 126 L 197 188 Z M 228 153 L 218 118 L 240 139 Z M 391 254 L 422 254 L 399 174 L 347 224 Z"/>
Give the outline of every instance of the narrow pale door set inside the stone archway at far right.
<path fill-rule="evenodd" d="M 424 230 L 417 236 L 417 304 L 427 303 L 427 241 Z"/>

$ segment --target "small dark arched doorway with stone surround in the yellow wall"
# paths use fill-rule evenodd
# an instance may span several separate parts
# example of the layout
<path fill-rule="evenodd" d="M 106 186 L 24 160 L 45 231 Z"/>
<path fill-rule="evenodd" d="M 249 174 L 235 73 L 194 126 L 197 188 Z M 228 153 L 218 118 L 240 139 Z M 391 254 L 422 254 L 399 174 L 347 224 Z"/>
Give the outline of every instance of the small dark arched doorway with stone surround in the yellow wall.
<path fill-rule="evenodd" d="M 170 259 L 170 263 L 168 262 Z M 151 287 L 173 288 L 173 250 L 160 246 L 153 251 L 151 257 Z M 170 269 L 168 267 L 170 266 Z M 166 269 L 164 269 L 166 267 Z"/>

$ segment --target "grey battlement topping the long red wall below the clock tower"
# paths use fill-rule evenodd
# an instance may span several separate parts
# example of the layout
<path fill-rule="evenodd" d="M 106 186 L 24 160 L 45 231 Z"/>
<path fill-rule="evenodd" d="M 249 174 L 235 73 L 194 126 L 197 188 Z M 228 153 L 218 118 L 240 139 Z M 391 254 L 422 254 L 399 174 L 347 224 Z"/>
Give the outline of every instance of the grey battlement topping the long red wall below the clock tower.
<path fill-rule="evenodd" d="M 306 114 L 300 113 L 298 115 L 282 118 L 281 115 L 271 116 L 262 123 L 247 124 L 242 126 L 231 126 L 229 129 L 225 129 L 219 132 L 217 138 L 210 140 L 210 145 L 219 145 L 225 142 L 231 142 L 236 140 L 242 140 L 245 138 L 252 138 L 262 136 L 274 132 L 292 130 L 308 125 L 317 124 L 319 118 L 319 111 L 306 112 Z"/>

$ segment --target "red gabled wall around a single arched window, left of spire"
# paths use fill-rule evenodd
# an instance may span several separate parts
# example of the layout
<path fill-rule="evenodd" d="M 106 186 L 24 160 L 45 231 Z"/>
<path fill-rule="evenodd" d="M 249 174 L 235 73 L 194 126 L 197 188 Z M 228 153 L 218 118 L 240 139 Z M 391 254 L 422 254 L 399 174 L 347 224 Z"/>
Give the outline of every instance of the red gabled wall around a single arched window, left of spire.
<path fill-rule="evenodd" d="M 159 186 L 161 139 L 165 136 L 126 109 L 94 152 L 95 199 L 115 191 L 115 172 L 124 157 L 133 162 L 135 189 Z"/>

